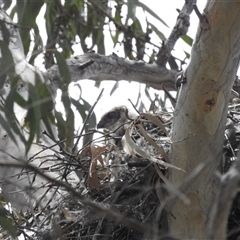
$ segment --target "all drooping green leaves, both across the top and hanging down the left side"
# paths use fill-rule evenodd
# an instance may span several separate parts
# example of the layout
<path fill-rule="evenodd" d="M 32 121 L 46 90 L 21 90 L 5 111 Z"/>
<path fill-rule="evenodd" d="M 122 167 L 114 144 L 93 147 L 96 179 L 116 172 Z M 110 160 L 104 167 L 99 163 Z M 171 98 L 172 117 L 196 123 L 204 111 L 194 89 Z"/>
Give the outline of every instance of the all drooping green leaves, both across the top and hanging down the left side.
<path fill-rule="evenodd" d="M 4 8 L 7 9 L 10 7 L 11 2 L 12 1 L 4 1 Z M 43 6 L 45 6 L 45 8 L 43 8 Z M 138 16 L 136 14 L 138 8 L 143 10 L 145 16 Z M 127 11 L 125 9 L 127 9 Z M 41 10 L 45 11 L 45 19 L 42 21 L 42 24 L 46 26 L 47 32 L 47 42 L 45 46 L 39 30 L 40 26 L 36 23 Z M 79 101 L 76 101 L 68 94 L 68 85 L 71 79 L 65 59 L 74 54 L 73 45 L 78 44 L 79 46 L 79 51 L 75 54 L 81 54 L 81 51 L 87 52 L 93 49 L 98 53 L 105 54 L 107 46 L 105 44 L 104 31 L 108 30 L 112 37 L 113 45 L 120 45 L 126 57 L 133 60 L 153 62 L 154 59 L 156 59 L 160 46 L 157 47 L 151 42 L 151 35 L 154 33 L 158 36 L 160 42 L 165 41 L 166 37 L 162 33 L 161 26 L 168 27 L 161 16 L 151 10 L 146 3 L 138 0 L 100 0 L 97 2 L 94 0 L 37 2 L 34 0 L 24 0 L 16 2 L 16 5 L 11 9 L 10 15 L 12 18 L 17 16 L 17 24 L 20 26 L 19 31 L 24 52 L 26 55 L 30 55 L 29 62 L 34 64 L 34 60 L 41 52 L 41 49 L 45 48 L 46 69 L 57 63 L 61 74 L 59 86 L 62 91 L 61 100 L 64 106 L 64 113 L 58 113 L 54 110 L 51 94 L 37 75 L 35 76 L 35 86 L 29 84 L 28 91 L 30 94 L 28 99 L 24 100 L 17 92 L 18 77 L 15 76 L 14 61 L 8 49 L 9 33 L 4 22 L 0 21 L 0 27 L 4 33 L 4 39 L 0 41 L 0 49 L 4 56 L 2 57 L 4 61 L 1 60 L 2 71 L 0 75 L 0 87 L 3 86 L 5 79 L 9 78 L 12 89 L 6 100 L 6 107 L 2 108 L 4 114 L 0 116 L 0 118 L 2 118 L 2 123 L 7 128 L 9 136 L 13 138 L 13 133 L 17 133 L 22 141 L 26 143 L 27 149 L 29 149 L 34 136 L 36 135 L 37 138 L 40 136 L 40 120 L 42 120 L 46 130 L 52 137 L 54 134 L 52 133 L 51 124 L 57 124 L 58 137 L 60 140 L 65 141 L 63 147 L 70 150 L 74 144 L 75 131 L 72 105 L 76 107 L 83 120 L 87 117 L 87 113 L 91 108 L 91 105 L 81 97 Z M 159 24 L 151 23 L 148 20 L 149 15 L 154 17 Z M 145 17 L 145 20 L 143 20 L 143 17 Z M 143 21 L 145 21 L 146 27 L 143 27 Z M 89 41 L 89 39 L 91 39 L 91 41 Z M 190 37 L 183 36 L 182 39 L 187 44 L 192 44 Z M 152 47 L 150 53 L 148 49 L 149 46 Z M 189 57 L 187 53 L 186 57 Z M 171 56 L 168 63 L 172 69 L 179 69 L 179 61 L 176 61 L 175 57 Z M 23 81 L 25 80 L 23 79 Z M 100 83 L 96 82 L 95 86 L 99 87 Z M 114 94 L 117 88 L 118 83 L 113 86 L 111 94 Z M 148 91 L 149 88 L 147 87 L 146 93 Z M 151 99 L 150 95 L 147 96 Z M 17 103 L 27 110 L 25 126 L 29 128 L 30 134 L 26 140 L 17 125 L 12 124 L 12 129 L 7 127 L 7 121 L 11 123 L 14 122 L 13 119 L 10 121 L 14 103 Z M 136 104 L 141 108 L 145 108 L 141 101 L 140 92 Z M 53 115 L 54 111 L 55 116 Z M 34 121 L 32 121 L 33 119 Z M 96 117 L 93 114 L 89 119 L 88 128 L 94 127 L 95 125 Z M 14 132 L 12 133 L 12 131 Z M 91 139 L 86 136 L 83 142 L 85 144 L 90 140 Z"/>

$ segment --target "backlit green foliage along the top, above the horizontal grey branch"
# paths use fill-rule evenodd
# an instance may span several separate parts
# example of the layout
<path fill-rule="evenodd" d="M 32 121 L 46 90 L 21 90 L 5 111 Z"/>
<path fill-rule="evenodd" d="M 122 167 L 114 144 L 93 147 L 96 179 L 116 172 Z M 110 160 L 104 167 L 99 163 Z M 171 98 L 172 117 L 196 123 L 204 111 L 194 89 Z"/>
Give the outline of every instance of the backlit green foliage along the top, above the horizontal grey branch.
<path fill-rule="evenodd" d="M 45 26 L 47 31 L 47 43 L 43 45 L 39 26 L 36 18 L 43 6 L 45 10 Z M 5 3 L 5 7 L 7 8 Z M 127 12 L 124 7 L 127 7 Z M 145 16 L 136 14 L 137 8 L 141 8 Z M 25 54 L 33 51 L 30 63 L 34 63 L 39 50 L 46 48 L 45 67 L 50 68 L 56 63 L 53 50 L 61 53 L 64 59 L 73 53 L 73 45 L 78 45 L 79 50 L 75 54 L 95 50 L 100 54 L 106 53 L 104 31 L 109 31 L 114 47 L 120 44 L 125 56 L 133 60 L 145 60 L 152 62 L 156 57 L 159 47 L 151 41 L 153 33 L 164 41 L 161 28 L 168 27 L 167 23 L 150 9 L 144 1 L 110 1 L 110 0 L 71 0 L 71 1 L 17 1 L 12 9 L 11 16 L 17 14 L 20 33 L 23 40 Z M 159 24 L 153 24 L 148 16 L 154 17 Z M 143 28 L 145 23 L 147 28 Z M 44 23 L 44 22 L 43 22 Z M 161 27 L 162 26 L 162 27 Z M 32 34 L 33 33 L 33 34 Z M 91 39 L 91 41 L 89 41 Z M 182 39 L 191 45 L 188 36 Z M 31 45 L 30 45 L 31 43 Z M 33 44 L 32 44 L 33 43 Z M 146 43 L 152 45 L 152 55 L 148 55 Z M 175 68 L 175 66 L 174 66 Z"/>

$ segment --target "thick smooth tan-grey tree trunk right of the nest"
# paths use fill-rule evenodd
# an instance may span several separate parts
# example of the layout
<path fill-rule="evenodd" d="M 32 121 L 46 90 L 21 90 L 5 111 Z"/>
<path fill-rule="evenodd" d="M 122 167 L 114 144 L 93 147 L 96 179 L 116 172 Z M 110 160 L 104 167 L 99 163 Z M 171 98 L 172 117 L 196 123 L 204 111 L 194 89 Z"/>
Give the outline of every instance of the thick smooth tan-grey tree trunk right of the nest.
<path fill-rule="evenodd" d="M 207 239 L 221 163 L 227 107 L 240 56 L 240 2 L 209 1 L 192 48 L 171 136 L 169 178 L 190 200 L 169 202 L 170 232 L 182 239 Z"/>

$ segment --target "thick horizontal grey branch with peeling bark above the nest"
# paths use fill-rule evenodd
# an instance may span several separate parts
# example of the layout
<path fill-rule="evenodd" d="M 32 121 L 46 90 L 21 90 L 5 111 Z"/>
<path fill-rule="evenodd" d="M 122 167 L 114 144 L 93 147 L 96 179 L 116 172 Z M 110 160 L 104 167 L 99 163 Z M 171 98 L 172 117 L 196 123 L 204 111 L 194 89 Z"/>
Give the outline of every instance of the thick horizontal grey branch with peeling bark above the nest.
<path fill-rule="evenodd" d="M 155 89 L 162 89 L 162 85 L 164 85 L 167 90 L 176 90 L 177 72 L 156 64 L 130 61 L 115 54 L 103 56 L 96 53 L 73 56 L 67 59 L 66 63 L 71 74 L 71 81 L 74 82 L 82 79 L 95 81 L 127 80 L 145 83 Z M 57 65 L 48 69 L 45 77 L 54 89 L 58 88 L 60 73 Z"/>

